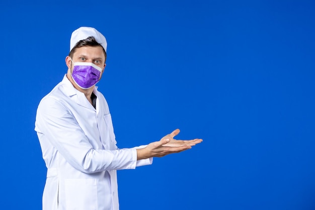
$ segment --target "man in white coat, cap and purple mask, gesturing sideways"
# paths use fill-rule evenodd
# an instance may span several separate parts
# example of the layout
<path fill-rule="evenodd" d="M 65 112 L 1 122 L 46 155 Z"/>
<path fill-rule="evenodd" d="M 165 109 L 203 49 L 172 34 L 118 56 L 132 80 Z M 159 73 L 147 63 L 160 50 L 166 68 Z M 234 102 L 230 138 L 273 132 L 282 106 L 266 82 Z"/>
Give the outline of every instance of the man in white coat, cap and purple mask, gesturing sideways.
<path fill-rule="evenodd" d="M 107 42 L 94 28 L 70 38 L 63 80 L 40 102 L 35 122 L 47 179 L 43 210 L 118 210 L 116 170 L 149 165 L 153 157 L 179 153 L 202 139 L 160 141 L 118 149 L 111 114 L 95 84 L 106 66 Z"/>

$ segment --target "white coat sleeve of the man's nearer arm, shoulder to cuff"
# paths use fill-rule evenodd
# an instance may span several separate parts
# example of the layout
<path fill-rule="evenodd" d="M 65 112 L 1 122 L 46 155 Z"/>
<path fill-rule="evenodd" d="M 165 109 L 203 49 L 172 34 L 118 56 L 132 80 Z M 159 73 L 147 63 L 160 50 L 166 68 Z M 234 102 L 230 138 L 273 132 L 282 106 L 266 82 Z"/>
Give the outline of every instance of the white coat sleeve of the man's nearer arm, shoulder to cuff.
<path fill-rule="evenodd" d="M 45 143 L 43 152 L 57 150 L 72 167 L 84 173 L 136 167 L 135 149 L 93 149 L 72 113 L 57 99 L 48 97 L 40 103 L 36 131 L 41 136 L 40 141 Z M 50 156 L 48 158 L 52 158 Z"/>

